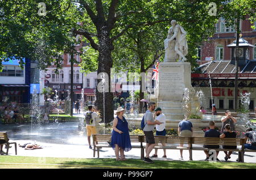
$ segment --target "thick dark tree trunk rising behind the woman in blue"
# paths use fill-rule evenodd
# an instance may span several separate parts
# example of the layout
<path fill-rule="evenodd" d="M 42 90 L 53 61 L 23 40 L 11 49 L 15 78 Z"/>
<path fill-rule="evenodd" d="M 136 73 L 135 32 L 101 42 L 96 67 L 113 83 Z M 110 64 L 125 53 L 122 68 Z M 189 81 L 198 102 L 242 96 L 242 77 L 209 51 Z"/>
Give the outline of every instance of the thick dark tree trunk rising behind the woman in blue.
<path fill-rule="evenodd" d="M 112 50 L 113 45 L 110 43 L 110 38 L 107 33 L 102 31 L 99 39 L 99 56 L 98 56 L 98 84 L 96 91 L 96 106 L 100 110 L 102 122 L 109 123 L 114 119 L 114 107 L 113 107 L 113 92 L 110 91 L 111 79 L 110 79 L 110 68 L 113 66 Z M 99 80 L 99 74 L 105 72 L 108 74 L 108 88 L 105 88 L 105 93 L 99 92 L 102 80 Z M 106 83 L 107 83 L 106 82 Z M 104 98 L 105 96 L 105 98 Z M 105 101 L 105 105 L 104 105 Z"/>

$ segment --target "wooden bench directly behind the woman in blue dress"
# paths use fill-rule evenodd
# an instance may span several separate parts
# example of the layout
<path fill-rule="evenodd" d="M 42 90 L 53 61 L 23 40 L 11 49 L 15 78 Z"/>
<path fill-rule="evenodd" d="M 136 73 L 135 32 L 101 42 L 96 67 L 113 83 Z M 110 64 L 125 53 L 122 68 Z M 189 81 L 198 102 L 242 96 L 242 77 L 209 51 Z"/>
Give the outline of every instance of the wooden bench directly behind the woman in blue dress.
<path fill-rule="evenodd" d="M 93 157 L 95 157 L 95 153 L 97 150 L 98 158 L 100 157 L 100 148 L 112 148 L 110 146 L 111 134 L 93 134 Z M 138 144 L 131 144 L 132 148 L 140 148 L 141 149 L 141 158 L 143 158 L 143 147 L 142 147 L 142 137 L 139 135 L 130 135 L 131 143 L 138 143 Z M 101 143 L 101 144 L 100 144 Z M 104 143 L 104 144 L 102 144 Z"/>

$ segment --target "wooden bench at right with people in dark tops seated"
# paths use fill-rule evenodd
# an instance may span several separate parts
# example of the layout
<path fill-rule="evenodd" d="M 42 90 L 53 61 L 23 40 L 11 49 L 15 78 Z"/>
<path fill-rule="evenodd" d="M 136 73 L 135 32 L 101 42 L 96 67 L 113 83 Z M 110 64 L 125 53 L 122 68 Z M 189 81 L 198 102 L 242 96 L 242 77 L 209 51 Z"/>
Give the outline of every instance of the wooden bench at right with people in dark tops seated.
<path fill-rule="evenodd" d="M 195 151 L 210 151 L 214 148 L 204 148 L 203 145 L 237 145 L 236 149 L 224 149 L 220 148 L 214 149 L 215 151 L 236 151 L 238 152 L 238 161 L 243 162 L 242 152 L 244 149 L 244 140 L 243 138 L 206 138 L 206 137 L 193 137 L 192 145 L 198 144 L 202 145 L 201 147 L 192 147 L 192 150 Z M 238 147 L 238 146 L 241 146 Z"/>

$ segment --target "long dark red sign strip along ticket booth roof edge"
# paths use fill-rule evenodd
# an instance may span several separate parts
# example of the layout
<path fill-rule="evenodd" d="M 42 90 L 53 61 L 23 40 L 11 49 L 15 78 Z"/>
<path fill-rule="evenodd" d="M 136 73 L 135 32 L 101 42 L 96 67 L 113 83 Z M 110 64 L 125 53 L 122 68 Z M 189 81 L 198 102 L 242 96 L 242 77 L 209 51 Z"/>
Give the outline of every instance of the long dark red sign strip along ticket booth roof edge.
<path fill-rule="evenodd" d="M 235 78 L 234 73 L 229 74 L 191 74 L 191 78 Z M 256 78 L 256 73 L 240 73 L 238 78 Z"/>

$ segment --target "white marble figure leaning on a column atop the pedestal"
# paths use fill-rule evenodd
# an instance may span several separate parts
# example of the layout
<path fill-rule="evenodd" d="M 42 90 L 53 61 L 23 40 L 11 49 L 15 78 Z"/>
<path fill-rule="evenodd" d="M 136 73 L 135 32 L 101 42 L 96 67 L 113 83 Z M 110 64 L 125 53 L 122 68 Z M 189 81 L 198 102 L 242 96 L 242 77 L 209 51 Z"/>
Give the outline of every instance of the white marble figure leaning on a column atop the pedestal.
<path fill-rule="evenodd" d="M 176 20 L 172 20 L 171 25 L 168 36 L 164 40 L 165 61 L 173 62 L 179 59 L 180 62 L 184 62 L 187 60 L 185 55 L 188 54 L 187 32 L 181 25 L 177 24 Z"/>

